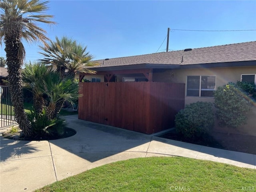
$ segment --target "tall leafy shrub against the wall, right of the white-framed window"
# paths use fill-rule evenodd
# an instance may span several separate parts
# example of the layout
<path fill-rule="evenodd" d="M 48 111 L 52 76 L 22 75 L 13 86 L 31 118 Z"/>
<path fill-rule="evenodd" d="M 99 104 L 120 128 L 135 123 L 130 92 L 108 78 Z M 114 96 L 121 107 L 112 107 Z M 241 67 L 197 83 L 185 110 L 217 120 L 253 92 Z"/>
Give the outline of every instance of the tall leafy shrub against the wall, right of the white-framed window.
<path fill-rule="evenodd" d="M 247 89 L 242 83 L 228 83 L 218 87 L 215 91 L 214 104 L 217 108 L 216 115 L 220 120 L 220 126 L 237 128 L 246 124 L 246 114 L 250 110 L 251 104 L 248 94 L 241 86 Z"/>

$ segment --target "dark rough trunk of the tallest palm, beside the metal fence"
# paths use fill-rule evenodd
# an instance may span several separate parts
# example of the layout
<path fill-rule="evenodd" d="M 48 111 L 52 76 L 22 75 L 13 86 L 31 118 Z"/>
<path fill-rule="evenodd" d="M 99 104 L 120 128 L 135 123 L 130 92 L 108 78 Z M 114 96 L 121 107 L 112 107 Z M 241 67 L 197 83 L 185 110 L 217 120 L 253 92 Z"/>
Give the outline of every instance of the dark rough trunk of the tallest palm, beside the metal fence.
<path fill-rule="evenodd" d="M 18 29 L 17 29 L 18 31 Z M 17 123 L 20 125 L 25 137 L 29 137 L 32 134 L 31 124 L 26 117 L 23 105 L 23 93 L 22 93 L 22 62 L 23 56 L 20 56 L 20 33 L 14 32 L 16 36 L 5 36 L 5 51 L 6 51 L 6 63 L 8 66 L 8 81 L 11 95 L 11 102 L 14 106 L 14 113 Z"/>

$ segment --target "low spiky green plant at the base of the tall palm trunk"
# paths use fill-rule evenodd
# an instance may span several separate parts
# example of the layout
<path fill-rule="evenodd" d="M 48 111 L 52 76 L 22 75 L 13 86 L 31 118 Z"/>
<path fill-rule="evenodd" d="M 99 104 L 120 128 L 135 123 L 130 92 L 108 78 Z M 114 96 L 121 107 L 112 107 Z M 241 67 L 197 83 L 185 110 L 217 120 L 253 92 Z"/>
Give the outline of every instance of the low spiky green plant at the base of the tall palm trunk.
<path fill-rule="evenodd" d="M 34 138 L 64 134 L 64 127 L 66 126 L 64 119 L 57 116 L 49 120 L 45 108 L 41 114 L 37 114 L 33 109 L 27 113 L 27 116 L 28 120 L 31 122 L 32 135 Z"/>

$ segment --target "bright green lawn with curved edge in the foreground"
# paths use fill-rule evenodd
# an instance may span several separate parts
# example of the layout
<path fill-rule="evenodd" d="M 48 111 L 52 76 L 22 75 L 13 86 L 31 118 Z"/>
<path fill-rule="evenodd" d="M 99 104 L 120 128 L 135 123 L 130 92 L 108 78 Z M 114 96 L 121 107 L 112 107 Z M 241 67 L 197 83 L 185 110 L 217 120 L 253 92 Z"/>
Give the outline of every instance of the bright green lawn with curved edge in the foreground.
<path fill-rule="evenodd" d="M 183 157 L 137 158 L 100 166 L 36 192 L 236 192 L 255 186 L 256 170 Z M 178 189 L 177 188 L 177 189 Z M 177 190 L 176 190 L 177 191 Z"/>

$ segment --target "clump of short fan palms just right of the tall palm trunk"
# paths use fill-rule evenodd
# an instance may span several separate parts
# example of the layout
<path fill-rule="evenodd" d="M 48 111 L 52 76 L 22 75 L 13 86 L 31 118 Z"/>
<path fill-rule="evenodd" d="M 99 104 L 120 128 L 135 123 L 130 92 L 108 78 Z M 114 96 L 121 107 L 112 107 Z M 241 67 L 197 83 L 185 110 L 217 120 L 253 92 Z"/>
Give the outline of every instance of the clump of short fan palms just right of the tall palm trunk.
<path fill-rule="evenodd" d="M 48 119 L 54 119 L 60 112 L 60 109 L 56 109 L 59 102 L 64 100 L 73 103 L 77 100 L 78 86 L 74 81 L 62 79 L 58 72 L 42 63 L 29 63 L 25 67 L 22 76 L 24 82 L 32 88 L 36 114 L 42 114 L 46 107 Z"/>

